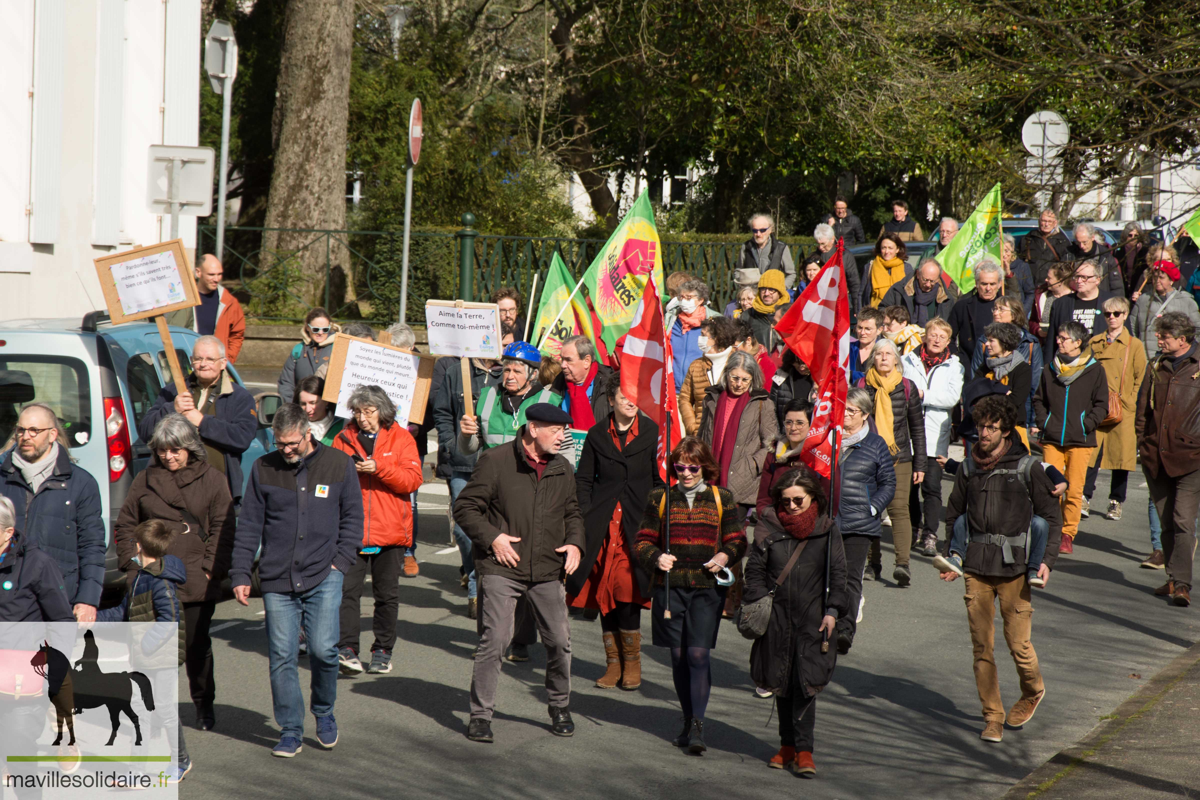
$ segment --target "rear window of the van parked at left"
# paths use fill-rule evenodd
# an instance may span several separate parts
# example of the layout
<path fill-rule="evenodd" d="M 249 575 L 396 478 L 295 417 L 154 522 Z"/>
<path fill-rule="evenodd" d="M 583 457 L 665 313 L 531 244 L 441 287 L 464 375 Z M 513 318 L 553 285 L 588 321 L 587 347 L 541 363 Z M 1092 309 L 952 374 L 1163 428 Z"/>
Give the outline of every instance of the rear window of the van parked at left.
<path fill-rule="evenodd" d="M 8 441 L 20 409 L 30 403 L 46 403 L 54 409 L 72 447 L 91 439 L 91 381 L 88 367 L 79 359 L 7 354 L 0 357 L 0 440 Z"/>

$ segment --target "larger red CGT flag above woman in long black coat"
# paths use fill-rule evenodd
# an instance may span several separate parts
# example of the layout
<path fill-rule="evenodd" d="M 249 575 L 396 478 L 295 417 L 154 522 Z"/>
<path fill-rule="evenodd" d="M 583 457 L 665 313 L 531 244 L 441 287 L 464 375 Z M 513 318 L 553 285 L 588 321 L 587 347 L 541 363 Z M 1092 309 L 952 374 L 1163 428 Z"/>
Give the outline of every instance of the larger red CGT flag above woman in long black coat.
<path fill-rule="evenodd" d="M 821 475 L 833 475 L 833 445 L 840 441 L 850 389 L 850 301 L 842 269 L 842 240 L 833 258 L 775 325 L 775 330 L 812 373 L 817 402 L 800 457 Z"/>

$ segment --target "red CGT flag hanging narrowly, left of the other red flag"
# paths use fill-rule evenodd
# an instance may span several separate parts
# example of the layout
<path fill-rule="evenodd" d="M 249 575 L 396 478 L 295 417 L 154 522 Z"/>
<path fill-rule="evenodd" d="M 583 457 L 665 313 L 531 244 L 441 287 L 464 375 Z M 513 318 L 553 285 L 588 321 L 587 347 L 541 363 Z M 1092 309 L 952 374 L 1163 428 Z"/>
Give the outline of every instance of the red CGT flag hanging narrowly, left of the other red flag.
<path fill-rule="evenodd" d="M 671 339 L 662 325 L 662 305 L 652 277 L 646 284 L 632 325 L 624 336 L 620 392 L 659 426 L 659 474 L 667 477 L 667 456 L 683 438 L 671 371 Z M 667 425 L 670 421 L 670 427 Z"/>

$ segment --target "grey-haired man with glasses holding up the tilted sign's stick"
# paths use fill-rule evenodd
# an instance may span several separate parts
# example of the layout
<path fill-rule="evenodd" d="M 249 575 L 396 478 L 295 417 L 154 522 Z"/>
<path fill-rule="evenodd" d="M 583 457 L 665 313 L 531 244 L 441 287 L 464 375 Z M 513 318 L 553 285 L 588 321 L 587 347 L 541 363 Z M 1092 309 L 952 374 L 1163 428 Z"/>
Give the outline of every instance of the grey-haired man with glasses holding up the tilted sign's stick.
<path fill-rule="evenodd" d="M 226 349 L 217 337 L 202 336 L 192 345 L 187 389 L 180 395 L 175 383 L 168 381 L 138 422 L 138 433 L 143 441 L 150 441 L 161 419 L 175 411 L 186 416 L 200 432 L 209 464 L 226 476 L 229 494 L 238 503 L 244 483 L 241 455 L 254 440 L 258 417 L 254 397 L 226 372 Z"/>

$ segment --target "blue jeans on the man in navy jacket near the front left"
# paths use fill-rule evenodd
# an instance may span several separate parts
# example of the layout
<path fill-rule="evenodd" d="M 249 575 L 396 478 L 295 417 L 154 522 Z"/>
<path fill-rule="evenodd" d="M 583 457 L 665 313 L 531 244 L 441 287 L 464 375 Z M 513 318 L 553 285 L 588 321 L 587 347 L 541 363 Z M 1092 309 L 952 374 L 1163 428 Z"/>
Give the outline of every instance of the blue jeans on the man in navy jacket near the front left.
<path fill-rule="evenodd" d="M 271 663 L 271 702 L 281 736 L 304 738 L 304 696 L 296 668 L 301 625 L 308 642 L 312 715 L 324 717 L 334 712 L 334 700 L 337 699 L 337 613 L 342 607 L 343 579 L 341 572 L 330 570 L 324 581 L 307 591 L 263 593 Z"/>

